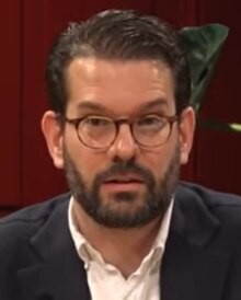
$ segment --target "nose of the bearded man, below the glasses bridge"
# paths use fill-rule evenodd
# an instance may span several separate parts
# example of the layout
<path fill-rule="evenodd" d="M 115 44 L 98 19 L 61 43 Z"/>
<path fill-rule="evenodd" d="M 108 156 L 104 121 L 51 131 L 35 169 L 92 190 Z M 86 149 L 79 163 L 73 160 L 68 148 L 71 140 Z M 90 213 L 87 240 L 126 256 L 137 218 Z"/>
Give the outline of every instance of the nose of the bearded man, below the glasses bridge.
<path fill-rule="evenodd" d="M 133 138 L 129 125 L 122 124 L 115 141 L 108 148 L 110 159 L 128 161 L 137 155 L 138 150 L 139 147 Z"/>

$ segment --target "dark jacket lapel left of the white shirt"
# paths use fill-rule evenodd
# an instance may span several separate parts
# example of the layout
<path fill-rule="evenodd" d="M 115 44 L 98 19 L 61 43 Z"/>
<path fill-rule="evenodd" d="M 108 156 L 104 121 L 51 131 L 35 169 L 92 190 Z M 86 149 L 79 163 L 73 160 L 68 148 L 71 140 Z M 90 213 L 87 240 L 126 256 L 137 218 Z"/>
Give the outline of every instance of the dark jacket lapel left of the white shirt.
<path fill-rule="evenodd" d="M 69 233 L 67 209 L 68 201 L 56 208 L 27 245 L 27 267 L 19 272 L 24 300 L 90 299 L 83 263 Z"/>

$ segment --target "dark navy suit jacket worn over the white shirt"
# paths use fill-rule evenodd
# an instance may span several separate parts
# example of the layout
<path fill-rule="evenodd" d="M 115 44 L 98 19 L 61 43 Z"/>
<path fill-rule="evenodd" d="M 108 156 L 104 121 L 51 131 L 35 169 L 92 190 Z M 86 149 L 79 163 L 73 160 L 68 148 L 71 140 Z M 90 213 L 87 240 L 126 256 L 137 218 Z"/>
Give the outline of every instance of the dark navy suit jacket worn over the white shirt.
<path fill-rule="evenodd" d="M 90 299 L 68 199 L 1 219 L 0 300 Z M 160 272 L 161 300 L 241 300 L 241 198 L 181 184 Z"/>

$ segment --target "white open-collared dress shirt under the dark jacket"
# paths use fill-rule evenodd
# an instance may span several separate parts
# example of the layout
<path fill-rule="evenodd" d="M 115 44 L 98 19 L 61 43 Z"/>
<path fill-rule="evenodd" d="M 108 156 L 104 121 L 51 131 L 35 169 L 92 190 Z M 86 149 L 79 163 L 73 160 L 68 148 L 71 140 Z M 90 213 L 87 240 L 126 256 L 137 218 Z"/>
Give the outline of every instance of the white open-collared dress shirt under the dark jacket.
<path fill-rule="evenodd" d="M 101 255 L 81 234 L 73 218 L 71 197 L 68 209 L 70 234 L 84 262 L 92 300 L 160 300 L 160 265 L 169 233 L 173 199 L 162 220 L 157 239 L 147 256 L 127 279 Z M 123 253 L 125 256 L 125 253 Z"/>

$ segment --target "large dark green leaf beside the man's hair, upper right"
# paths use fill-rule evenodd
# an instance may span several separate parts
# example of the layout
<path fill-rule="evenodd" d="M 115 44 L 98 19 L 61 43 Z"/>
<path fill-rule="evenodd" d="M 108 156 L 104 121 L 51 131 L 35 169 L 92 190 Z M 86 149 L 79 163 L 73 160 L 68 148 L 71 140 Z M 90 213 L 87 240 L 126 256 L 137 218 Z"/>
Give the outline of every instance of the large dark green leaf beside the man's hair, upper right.
<path fill-rule="evenodd" d="M 229 28 L 221 24 L 207 24 L 180 30 L 191 65 L 191 104 L 196 112 L 200 109 L 228 32 Z"/>

